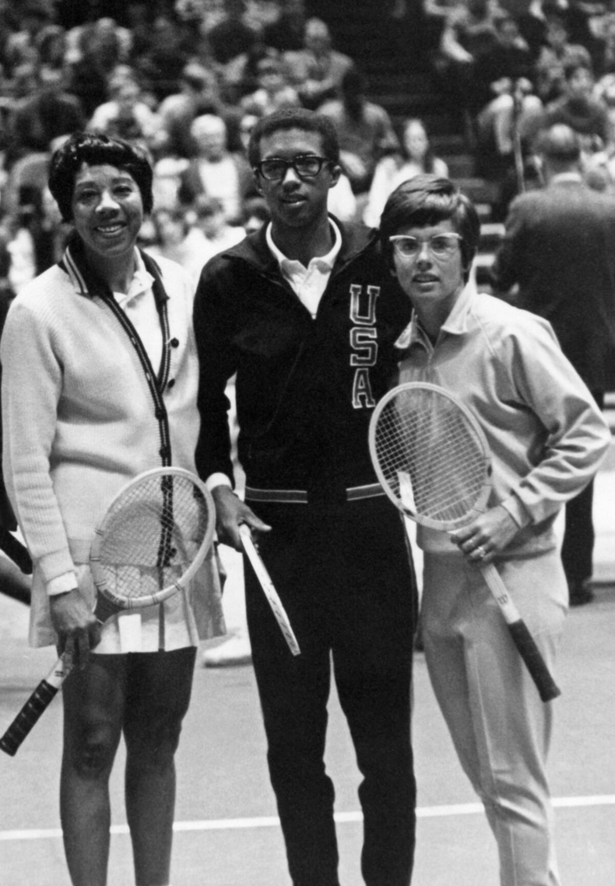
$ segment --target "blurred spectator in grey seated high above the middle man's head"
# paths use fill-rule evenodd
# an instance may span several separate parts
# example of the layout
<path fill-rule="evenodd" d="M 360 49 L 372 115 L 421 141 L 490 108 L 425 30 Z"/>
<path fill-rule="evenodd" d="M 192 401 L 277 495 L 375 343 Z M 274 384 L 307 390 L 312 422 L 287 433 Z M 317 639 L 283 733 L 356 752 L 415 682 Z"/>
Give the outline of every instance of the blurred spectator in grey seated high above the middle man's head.
<path fill-rule="evenodd" d="M 284 60 L 301 104 L 311 110 L 341 95 L 344 74 L 354 66 L 352 58 L 333 49 L 329 27 L 315 18 L 306 22 L 304 48 L 284 53 Z"/>

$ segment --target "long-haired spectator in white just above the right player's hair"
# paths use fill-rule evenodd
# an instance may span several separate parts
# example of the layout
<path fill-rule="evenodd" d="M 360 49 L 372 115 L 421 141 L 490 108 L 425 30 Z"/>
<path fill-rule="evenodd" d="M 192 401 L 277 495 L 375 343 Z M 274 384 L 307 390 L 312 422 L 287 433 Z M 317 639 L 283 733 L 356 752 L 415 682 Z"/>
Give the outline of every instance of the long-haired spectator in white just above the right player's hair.
<path fill-rule="evenodd" d="M 365 224 L 377 228 L 389 194 L 398 184 L 424 172 L 448 178 L 448 166 L 433 155 L 423 120 L 409 117 L 403 124 L 400 150 L 378 161 L 363 213 Z"/>

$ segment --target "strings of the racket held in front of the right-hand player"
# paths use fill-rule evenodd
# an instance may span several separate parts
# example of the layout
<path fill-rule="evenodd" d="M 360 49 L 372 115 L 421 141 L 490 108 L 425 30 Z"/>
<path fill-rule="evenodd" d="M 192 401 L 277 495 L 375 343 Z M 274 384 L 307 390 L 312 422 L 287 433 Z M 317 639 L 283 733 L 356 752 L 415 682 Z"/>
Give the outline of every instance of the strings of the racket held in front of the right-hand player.
<path fill-rule="evenodd" d="M 430 391 L 406 393 L 378 416 L 375 443 L 385 481 L 416 517 L 463 522 L 485 487 L 483 447 L 454 403 Z"/>

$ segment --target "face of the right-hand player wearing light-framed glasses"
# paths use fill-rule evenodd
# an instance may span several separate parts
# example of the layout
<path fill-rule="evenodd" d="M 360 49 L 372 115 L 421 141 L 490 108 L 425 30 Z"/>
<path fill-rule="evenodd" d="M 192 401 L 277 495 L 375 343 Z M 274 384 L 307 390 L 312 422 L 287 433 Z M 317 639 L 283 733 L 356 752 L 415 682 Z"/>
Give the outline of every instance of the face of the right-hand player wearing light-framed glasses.
<path fill-rule="evenodd" d="M 393 249 L 393 276 L 409 296 L 419 318 L 437 315 L 444 323 L 463 290 L 463 260 L 459 242 L 450 254 L 437 258 L 426 242 L 439 234 L 455 233 L 452 221 L 426 228 L 404 227 L 398 234 L 424 242 L 416 258 L 406 258 Z"/>

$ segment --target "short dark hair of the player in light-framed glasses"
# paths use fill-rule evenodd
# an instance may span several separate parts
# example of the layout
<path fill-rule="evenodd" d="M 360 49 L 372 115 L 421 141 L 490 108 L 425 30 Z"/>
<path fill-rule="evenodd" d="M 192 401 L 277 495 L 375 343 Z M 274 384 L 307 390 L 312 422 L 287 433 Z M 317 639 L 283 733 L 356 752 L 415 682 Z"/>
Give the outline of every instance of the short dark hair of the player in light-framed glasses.
<path fill-rule="evenodd" d="M 389 237 L 399 234 L 401 228 L 425 228 L 448 219 L 463 237 L 461 250 L 467 282 L 479 245 L 479 214 L 471 199 L 455 183 L 438 175 L 415 175 L 402 182 L 387 199 L 380 218 L 380 243 L 389 267 L 393 267 Z"/>

